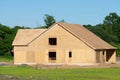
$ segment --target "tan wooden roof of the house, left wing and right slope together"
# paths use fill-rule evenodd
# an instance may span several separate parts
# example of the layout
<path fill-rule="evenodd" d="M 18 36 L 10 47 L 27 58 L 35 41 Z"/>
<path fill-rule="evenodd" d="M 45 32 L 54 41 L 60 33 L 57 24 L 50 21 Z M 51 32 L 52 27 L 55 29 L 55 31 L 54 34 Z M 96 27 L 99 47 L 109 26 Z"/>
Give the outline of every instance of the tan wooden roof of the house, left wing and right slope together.
<path fill-rule="evenodd" d="M 16 37 L 13 41 L 13 45 L 28 45 L 39 36 L 45 34 L 47 31 L 51 30 L 55 25 L 59 25 L 72 35 L 83 41 L 89 47 L 97 49 L 116 49 L 111 46 L 98 36 L 96 36 L 91 31 L 87 30 L 85 27 L 79 24 L 67 24 L 67 23 L 55 23 L 48 29 L 20 29 L 18 30 Z M 29 37 L 30 36 L 30 37 Z"/>

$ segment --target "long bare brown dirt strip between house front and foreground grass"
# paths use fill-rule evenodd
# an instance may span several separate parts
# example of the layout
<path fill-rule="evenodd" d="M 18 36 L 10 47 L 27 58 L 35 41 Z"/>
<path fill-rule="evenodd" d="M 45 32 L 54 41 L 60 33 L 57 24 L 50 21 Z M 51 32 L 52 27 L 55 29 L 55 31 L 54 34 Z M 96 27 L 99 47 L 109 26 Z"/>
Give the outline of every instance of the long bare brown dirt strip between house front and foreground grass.
<path fill-rule="evenodd" d="M 120 63 L 116 64 L 97 64 L 97 65 L 37 65 L 38 69 L 57 69 L 57 68 L 120 68 Z"/>

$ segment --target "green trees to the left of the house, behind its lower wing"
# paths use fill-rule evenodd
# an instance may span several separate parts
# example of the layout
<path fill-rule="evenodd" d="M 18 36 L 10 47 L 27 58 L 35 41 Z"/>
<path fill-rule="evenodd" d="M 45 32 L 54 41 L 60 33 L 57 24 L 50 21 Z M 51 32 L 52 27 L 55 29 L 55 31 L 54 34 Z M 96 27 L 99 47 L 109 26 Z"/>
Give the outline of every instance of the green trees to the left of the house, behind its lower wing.
<path fill-rule="evenodd" d="M 10 28 L 8 26 L 0 24 L 0 55 L 10 54 L 13 46 L 12 42 L 18 29 L 24 29 L 26 27 L 15 26 Z"/>

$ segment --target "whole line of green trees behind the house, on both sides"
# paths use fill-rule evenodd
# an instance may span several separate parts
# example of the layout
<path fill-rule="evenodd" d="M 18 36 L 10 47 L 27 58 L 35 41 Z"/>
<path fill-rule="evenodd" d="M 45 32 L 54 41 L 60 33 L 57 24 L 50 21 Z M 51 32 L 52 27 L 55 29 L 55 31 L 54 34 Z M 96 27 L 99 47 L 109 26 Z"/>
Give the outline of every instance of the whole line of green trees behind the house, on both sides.
<path fill-rule="evenodd" d="M 54 16 L 45 14 L 44 26 L 35 28 L 48 28 L 56 22 Z M 64 20 L 57 22 L 65 22 Z M 117 48 L 117 55 L 120 55 L 120 16 L 117 13 L 110 13 L 107 15 L 101 24 L 83 25 L 97 36 L 110 43 Z M 18 29 L 28 29 L 30 27 L 15 26 L 13 28 L 0 24 L 0 55 L 7 55 L 12 53 L 12 42 Z"/>

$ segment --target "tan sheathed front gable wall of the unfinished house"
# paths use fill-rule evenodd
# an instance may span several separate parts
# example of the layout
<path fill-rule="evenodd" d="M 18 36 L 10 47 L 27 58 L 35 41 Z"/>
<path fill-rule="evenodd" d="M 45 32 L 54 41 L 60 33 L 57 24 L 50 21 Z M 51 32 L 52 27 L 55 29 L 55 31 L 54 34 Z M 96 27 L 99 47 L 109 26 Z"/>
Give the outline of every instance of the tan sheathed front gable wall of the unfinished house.
<path fill-rule="evenodd" d="M 57 45 L 49 45 L 49 38 L 57 38 Z M 49 64 L 48 53 L 50 51 L 56 52 L 56 63 L 96 63 L 96 52 L 58 25 L 52 27 L 28 46 L 14 46 L 14 63 Z M 71 58 L 69 58 L 69 52 L 72 52 Z M 27 59 L 30 57 L 29 55 L 31 55 L 31 59 L 34 56 L 34 59 Z"/>

